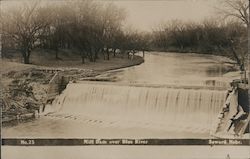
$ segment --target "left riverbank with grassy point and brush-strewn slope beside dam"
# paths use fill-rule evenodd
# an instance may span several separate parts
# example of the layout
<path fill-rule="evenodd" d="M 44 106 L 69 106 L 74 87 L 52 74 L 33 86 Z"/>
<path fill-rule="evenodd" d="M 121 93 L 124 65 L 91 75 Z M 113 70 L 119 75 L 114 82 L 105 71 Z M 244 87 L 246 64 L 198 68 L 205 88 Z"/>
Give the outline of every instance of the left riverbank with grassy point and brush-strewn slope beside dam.
<path fill-rule="evenodd" d="M 13 60 L 15 61 L 15 60 Z M 39 61 L 39 62 L 38 62 Z M 107 70 L 139 65 L 143 58 L 111 58 L 95 63 L 81 64 L 74 60 L 33 59 L 33 64 L 22 64 L 8 60 L 0 61 L 1 101 L 3 102 L 3 126 L 16 125 L 39 117 L 48 99 L 50 81 L 60 72 L 61 76 L 78 80 L 95 77 Z M 44 64 L 44 65 L 42 65 Z"/>

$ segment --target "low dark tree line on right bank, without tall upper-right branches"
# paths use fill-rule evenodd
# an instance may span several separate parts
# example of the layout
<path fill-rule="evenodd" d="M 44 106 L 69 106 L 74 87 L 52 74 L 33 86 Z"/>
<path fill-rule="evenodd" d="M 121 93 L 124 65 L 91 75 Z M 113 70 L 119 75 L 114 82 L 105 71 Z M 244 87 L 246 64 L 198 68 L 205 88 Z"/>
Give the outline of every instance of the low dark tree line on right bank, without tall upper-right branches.
<path fill-rule="evenodd" d="M 244 70 L 247 60 L 247 27 L 242 23 L 222 23 L 207 20 L 203 23 L 172 21 L 153 31 L 155 50 L 196 52 L 228 56 Z"/>

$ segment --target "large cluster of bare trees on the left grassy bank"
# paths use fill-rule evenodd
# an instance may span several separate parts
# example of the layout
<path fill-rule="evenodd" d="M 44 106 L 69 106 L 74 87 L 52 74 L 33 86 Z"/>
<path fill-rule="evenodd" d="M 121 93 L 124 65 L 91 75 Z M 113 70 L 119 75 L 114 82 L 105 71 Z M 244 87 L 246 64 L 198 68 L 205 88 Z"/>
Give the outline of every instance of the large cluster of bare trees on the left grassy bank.
<path fill-rule="evenodd" d="M 143 50 L 144 35 L 124 29 L 126 12 L 109 3 L 69 1 L 57 5 L 32 2 L 6 10 L 1 16 L 2 46 L 15 48 L 25 64 L 35 48 L 50 49 L 59 59 L 59 49 L 75 49 L 82 63 L 100 56 Z"/>

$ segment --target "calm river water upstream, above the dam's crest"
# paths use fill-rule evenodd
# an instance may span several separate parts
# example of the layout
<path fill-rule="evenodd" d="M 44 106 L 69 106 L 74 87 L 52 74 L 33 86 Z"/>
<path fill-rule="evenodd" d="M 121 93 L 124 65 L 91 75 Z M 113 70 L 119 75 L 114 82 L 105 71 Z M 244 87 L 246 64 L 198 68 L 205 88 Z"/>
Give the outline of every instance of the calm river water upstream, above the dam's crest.
<path fill-rule="evenodd" d="M 207 81 L 216 81 L 214 84 L 224 86 L 230 81 L 224 74 L 232 70 L 232 65 L 226 64 L 228 60 L 225 57 L 192 53 L 151 52 L 146 54 L 145 63 L 109 71 L 101 77 L 113 77 L 123 83 L 201 86 L 209 84 Z"/>

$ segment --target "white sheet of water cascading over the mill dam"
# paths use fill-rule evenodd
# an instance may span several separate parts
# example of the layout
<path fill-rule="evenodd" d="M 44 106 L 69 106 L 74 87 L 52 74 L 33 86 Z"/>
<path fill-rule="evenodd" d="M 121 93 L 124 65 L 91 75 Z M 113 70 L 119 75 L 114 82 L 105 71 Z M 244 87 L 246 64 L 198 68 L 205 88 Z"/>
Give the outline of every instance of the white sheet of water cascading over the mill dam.
<path fill-rule="evenodd" d="M 101 127 L 208 133 L 225 95 L 221 90 L 71 83 L 54 101 L 49 116 L 87 117 Z"/>

